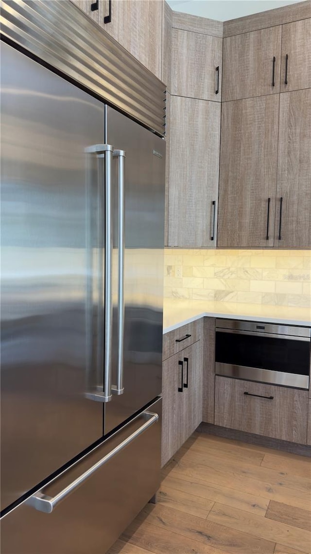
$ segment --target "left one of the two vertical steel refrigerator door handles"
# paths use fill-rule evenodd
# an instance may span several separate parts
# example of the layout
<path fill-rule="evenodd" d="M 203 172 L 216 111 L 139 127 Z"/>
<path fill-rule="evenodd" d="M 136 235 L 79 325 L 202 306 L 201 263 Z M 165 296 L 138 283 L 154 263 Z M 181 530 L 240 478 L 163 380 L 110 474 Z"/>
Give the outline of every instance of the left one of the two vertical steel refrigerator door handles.
<path fill-rule="evenodd" d="M 112 356 L 112 153 L 113 146 L 96 144 L 85 148 L 86 153 L 95 153 L 97 158 L 105 160 L 105 337 L 101 334 L 98 343 L 97 370 L 103 382 L 96 383 L 94 390 L 86 392 L 86 398 L 97 402 L 109 402 L 111 393 L 111 356 Z M 102 290 L 103 283 L 100 283 Z M 102 295 L 101 295 L 102 296 Z M 99 302 L 101 298 L 99 297 Z"/>

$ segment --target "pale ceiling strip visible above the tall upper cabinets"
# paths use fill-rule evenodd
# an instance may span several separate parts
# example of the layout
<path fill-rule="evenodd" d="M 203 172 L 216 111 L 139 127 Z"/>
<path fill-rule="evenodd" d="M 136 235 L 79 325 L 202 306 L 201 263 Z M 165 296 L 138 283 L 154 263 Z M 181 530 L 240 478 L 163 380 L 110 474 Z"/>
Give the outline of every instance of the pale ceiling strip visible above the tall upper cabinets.
<path fill-rule="evenodd" d="M 301 0 L 167 0 L 176 12 L 191 13 L 193 16 L 227 21 L 267 9 L 280 8 Z"/>

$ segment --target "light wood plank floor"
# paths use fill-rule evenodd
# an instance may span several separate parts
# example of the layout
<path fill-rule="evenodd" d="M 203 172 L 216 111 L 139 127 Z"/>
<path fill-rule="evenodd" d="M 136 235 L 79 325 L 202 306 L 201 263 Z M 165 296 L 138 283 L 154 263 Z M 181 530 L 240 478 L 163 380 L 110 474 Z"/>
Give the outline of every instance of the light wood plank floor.
<path fill-rule="evenodd" d="M 108 554 L 311 554 L 311 458 L 194 433 Z"/>

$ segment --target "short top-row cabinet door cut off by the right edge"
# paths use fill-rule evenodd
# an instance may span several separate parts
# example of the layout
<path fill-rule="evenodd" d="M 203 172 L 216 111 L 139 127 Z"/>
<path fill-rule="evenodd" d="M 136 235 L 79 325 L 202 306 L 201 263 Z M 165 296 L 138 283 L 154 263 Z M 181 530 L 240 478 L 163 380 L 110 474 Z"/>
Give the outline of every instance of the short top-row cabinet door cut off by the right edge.
<path fill-rule="evenodd" d="M 311 19 L 302 19 L 282 25 L 281 92 L 310 87 Z"/>

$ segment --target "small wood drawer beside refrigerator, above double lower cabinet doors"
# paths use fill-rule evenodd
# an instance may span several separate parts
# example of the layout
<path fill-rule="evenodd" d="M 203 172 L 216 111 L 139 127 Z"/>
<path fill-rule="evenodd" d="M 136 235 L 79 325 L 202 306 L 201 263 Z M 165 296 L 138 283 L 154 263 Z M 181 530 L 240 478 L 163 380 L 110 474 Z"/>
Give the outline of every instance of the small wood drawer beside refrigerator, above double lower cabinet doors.
<path fill-rule="evenodd" d="M 191 321 L 174 331 L 169 331 L 163 335 L 163 360 L 167 360 L 170 356 L 174 356 L 183 348 L 190 346 L 200 339 L 200 321 Z"/>

